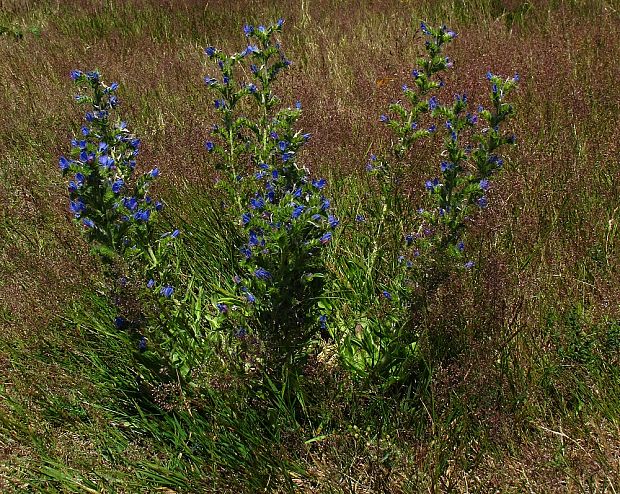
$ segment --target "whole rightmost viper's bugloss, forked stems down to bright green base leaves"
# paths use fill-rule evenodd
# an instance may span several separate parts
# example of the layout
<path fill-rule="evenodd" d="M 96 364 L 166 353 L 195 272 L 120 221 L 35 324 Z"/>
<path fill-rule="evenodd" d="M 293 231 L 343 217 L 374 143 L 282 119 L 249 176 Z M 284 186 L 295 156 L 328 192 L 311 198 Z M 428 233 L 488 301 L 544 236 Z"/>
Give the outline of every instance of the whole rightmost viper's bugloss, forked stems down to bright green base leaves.
<path fill-rule="evenodd" d="M 377 317 L 374 324 L 359 326 L 361 334 L 345 334 L 341 345 L 345 363 L 387 384 L 411 377 L 407 368 L 415 366 L 420 338 L 415 320 L 425 300 L 454 269 L 473 266 L 473 261 L 465 257 L 468 220 L 487 207 L 490 178 L 503 164 L 498 148 L 515 142 L 515 137 L 504 134 L 500 127 L 514 113 L 505 98 L 516 87 L 518 76 L 504 80 L 487 74 L 490 109 L 480 106 L 477 113 L 468 112 L 465 94 L 456 94 L 453 101 L 442 104 L 431 92 L 444 86 L 435 76 L 452 66 L 442 49 L 456 34 L 445 26 L 433 28 L 425 23 L 421 31 L 427 38 L 428 56 L 420 58 L 419 67 L 412 72 L 414 86 L 403 86 L 406 102 L 390 105 L 389 114 L 381 116 L 381 121 L 394 131 L 395 139 L 384 155 L 371 156 L 367 166 L 376 174 L 382 192 L 377 231 L 382 233 L 383 222 L 391 219 L 396 228 L 385 228 L 387 234 L 391 230 L 400 236 L 397 242 L 384 242 L 393 250 L 381 252 L 398 256 L 396 269 L 382 281 L 384 289 L 378 294 L 380 310 L 385 311 L 383 305 L 389 305 L 390 317 Z M 421 125 L 423 118 L 425 125 Z M 429 118 L 434 123 L 426 127 Z M 439 175 L 425 182 L 427 207 L 408 215 L 411 208 L 400 184 L 413 158 L 409 151 L 418 139 L 439 128 L 445 129 Z M 379 252 L 377 245 L 378 240 L 371 251 L 370 269 L 373 256 Z"/>

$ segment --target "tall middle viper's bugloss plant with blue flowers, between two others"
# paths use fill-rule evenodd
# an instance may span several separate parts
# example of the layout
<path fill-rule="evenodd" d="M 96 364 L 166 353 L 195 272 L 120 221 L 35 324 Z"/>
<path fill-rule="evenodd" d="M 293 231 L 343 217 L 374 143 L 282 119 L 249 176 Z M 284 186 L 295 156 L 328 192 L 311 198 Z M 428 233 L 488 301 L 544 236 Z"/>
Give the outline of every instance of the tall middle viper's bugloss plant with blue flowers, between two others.
<path fill-rule="evenodd" d="M 317 305 L 326 276 L 322 251 L 339 221 L 324 196 L 325 179 L 311 179 L 298 163 L 298 152 L 310 138 L 295 129 L 301 105 L 282 107 L 273 93 L 274 81 L 290 65 L 274 39 L 282 24 L 280 20 L 269 27 L 246 25 L 248 45 L 240 54 L 227 56 L 211 47 L 205 51 L 223 74 L 222 82 L 207 79 L 222 96 L 216 101 L 222 115 L 222 125 L 215 131 L 220 142 L 208 142 L 207 149 L 232 156 L 241 146 L 236 137 L 244 136 L 251 163 L 251 176 L 244 180 L 253 185 L 249 195 L 239 199 L 247 241 L 239 246 L 238 298 L 235 307 L 221 303 L 218 308 L 231 330 L 258 337 L 265 349 L 266 370 L 287 372 L 304 360 L 310 342 L 324 327 L 325 317 Z M 249 97 L 255 111 L 253 116 L 232 119 L 223 108 L 237 101 L 226 88 L 233 79 L 229 67 L 236 62 L 249 65 L 249 80 L 236 94 Z M 230 122 L 238 125 L 232 134 L 223 130 Z M 225 140 L 227 136 L 232 137 Z"/>

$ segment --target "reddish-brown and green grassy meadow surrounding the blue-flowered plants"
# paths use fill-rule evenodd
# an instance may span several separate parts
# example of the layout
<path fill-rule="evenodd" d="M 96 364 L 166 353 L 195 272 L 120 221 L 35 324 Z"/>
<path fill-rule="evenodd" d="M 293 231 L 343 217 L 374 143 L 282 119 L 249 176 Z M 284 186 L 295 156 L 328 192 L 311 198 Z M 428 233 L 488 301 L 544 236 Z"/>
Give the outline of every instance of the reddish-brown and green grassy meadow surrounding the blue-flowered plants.
<path fill-rule="evenodd" d="M 162 370 L 156 338 L 137 351 L 57 165 L 83 118 L 69 73 L 96 68 L 120 85 L 138 168 L 161 171 L 161 221 L 210 300 L 236 233 L 205 150 L 203 50 L 243 49 L 244 24 L 278 18 L 293 63 L 276 90 L 303 105 L 300 162 L 327 178 L 341 221 L 326 258 L 341 331 L 389 319 L 372 297 L 394 267 L 370 266 L 353 218 L 376 201 L 365 166 L 389 146 L 379 116 L 411 84 L 420 21 L 458 33 L 440 97 L 465 91 L 476 108 L 487 71 L 520 75 L 516 146 L 469 225 L 475 267 L 425 300 L 415 377 L 386 391 L 326 341 L 295 411 L 208 345 L 191 384 Z M 0 491 L 617 491 L 620 3 L 0 0 L 0 33 Z M 412 211 L 440 147 L 422 142 L 407 168 Z"/>

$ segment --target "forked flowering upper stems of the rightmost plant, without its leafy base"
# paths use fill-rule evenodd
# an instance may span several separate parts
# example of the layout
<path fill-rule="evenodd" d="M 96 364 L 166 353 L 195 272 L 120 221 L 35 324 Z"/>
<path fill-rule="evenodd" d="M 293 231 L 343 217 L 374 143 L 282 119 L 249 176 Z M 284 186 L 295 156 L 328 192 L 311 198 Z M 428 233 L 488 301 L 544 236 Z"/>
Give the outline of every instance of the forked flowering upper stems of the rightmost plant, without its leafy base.
<path fill-rule="evenodd" d="M 426 209 L 417 210 L 417 225 L 405 231 L 403 250 L 399 253 L 401 262 L 408 261 L 403 263 L 405 266 L 412 267 L 414 258 L 425 255 L 433 258 L 433 269 L 436 269 L 437 263 L 462 258 L 467 221 L 476 210 L 487 206 L 489 179 L 503 164 L 497 150 L 504 144 L 515 142 L 514 135 L 505 135 L 500 126 L 514 113 L 514 107 L 505 98 L 516 87 L 519 77 L 515 75 L 504 80 L 488 72 L 492 105 L 490 109 L 480 106 L 477 113 L 467 111 L 468 99 L 464 93 L 455 94 L 453 101 L 446 104 L 442 104 L 436 95 L 428 98 L 430 90 L 444 86 L 441 80 L 432 80 L 432 76 L 452 67 L 452 62 L 443 56 L 441 50 L 456 34 L 445 26 L 433 28 L 424 22 L 421 30 L 427 37 L 428 57 L 420 58 L 420 67 L 412 72 L 417 91 L 403 87 L 410 108 L 400 102 L 394 103 L 390 105 L 394 117 L 381 117 L 396 134 L 389 153 L 393 161 L 371 159 L 369 169 L 377 169 L 380 175 L 389 176 L 389 190 L 402 200 L 402 194 L 398 194 L 394 184 L 402 179 L 406 153 L 417 139 L 429 135 L 429 132 L 437 132 L 438 127 L 445 129 L 440 174 L 425 182 L 430 204 Z M 418 127 L 418 117 L 423 113 L 440 120 L 437 122 L 440 125 L 414 131 Z M 407 225 L 406 228 L 410 227 Z M 409 254 L 408 258 L 403 255 L 405 253 Z M 422 262 L 418 264 L 424 265 Z M 464 264 L 467 267 L 472 265 L 469 261 Z"/>

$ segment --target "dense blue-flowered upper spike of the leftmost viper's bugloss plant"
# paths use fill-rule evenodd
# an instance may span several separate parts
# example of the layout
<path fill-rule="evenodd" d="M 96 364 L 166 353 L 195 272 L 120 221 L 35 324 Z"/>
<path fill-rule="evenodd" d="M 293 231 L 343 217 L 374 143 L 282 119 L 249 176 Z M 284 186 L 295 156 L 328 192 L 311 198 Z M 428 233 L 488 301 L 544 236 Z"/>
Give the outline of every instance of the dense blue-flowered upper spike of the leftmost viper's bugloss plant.
<path fill-rule="evenodd" d="M 149 195 L 159 170 L 133 179 L 140 140 L 126 122 L 111 118 L 118 106 L 118 84 L 107 85 L 97 71 L 74 70 L 71 78 L 81 89 L 77 102 L 90 109 L 81 135 L 71 141 L 69 157 L 59 160 L 63 176 L 69 177 L 69 209 L 104 257 L 146 252 L 154 217 L 162 208 Z"/>

